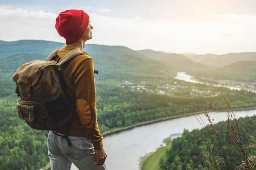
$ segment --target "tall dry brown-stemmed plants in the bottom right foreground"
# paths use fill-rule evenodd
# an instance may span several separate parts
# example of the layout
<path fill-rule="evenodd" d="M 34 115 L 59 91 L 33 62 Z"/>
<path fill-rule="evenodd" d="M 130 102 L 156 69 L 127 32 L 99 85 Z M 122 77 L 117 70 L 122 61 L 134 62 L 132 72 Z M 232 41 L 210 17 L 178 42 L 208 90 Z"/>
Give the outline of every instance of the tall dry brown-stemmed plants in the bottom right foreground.
<path fill-rule="evenodd" d="M 218 130 L 215 126 L 214 119 L 211 119 L 209 115 L 209 107 L 204 106 L 204 115 L 206 116 L 210 130 L 207 128 L 207 126 L 204 124 L 204 121 L 201 119 L 201 117 L 197 114 L 195 115 L 196 119 L 199 121 L 201 119 L 202 123 L 200 124 L 203 127 L 204 134 L 202 139 L 203 142 L 203 151 L 204 153 L 201 155 L 204 159 L 205 164 L 207 165 L 209 170 L 234 170 L 239 169 L 236 164 L 234 164 L 233 160 L 231 159 L 230 152 L 231 150 L 236 153 L 236 156 L 240 158 L 241 160 L 244 160 L 244 167 L 246 170 L 256 170 L 256 163 L 255 161 L 252 161 L 252 159 L 249 159 L 247 156 L 247 149 L 255 149 L 256 150 L 256 128 L 253 133 L 248 133 L 248 136 L 250 136 L 251 144 L 249 146 L 245 146 L 244 142 L 241 138 L 241 128 L 243 128 L 243 132 L 246 133 L 247 130 L 244 129 L 247 126 L 256 127 L 256 121 L 253 119 L 251 120 L 250 125 L 245 125 L 243 127 L 239 126 L 239 120 L 236 118 L 235 113 L 233 112 L 233 109 L 231 108 L 229 102 L 224 97 L 223 94 L 221 94 L 224 102 L 227 104 L 229 111 L 227 113 L 227 127 L 225 133 L 227 134 L 226 140 L 227 144 L 223 146 L 220 142 L 219 136 L 218 136 Z M 198 119 L 199 118 L 199 119 Z M 232 123 L 231 123 L 232 120 Z M 244 123 L 244 122 L 241 122 Z M 204 135 L 209 136 L 210 140 L 207 141 Z M 227 152 L 225 152 L 227 150 Z"/>

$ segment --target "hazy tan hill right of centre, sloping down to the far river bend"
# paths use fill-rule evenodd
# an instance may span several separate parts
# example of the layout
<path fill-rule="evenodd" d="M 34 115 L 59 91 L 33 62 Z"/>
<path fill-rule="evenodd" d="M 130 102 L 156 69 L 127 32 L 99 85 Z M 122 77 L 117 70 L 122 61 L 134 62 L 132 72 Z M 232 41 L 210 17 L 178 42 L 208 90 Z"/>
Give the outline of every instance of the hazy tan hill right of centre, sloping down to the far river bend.
<path fill-rule="evenodd" d="M 173 68 L 175 71 L 186 71 L 186 72 L 194 72 L 194 71 L 203 71 L 210 69 L 209 66 L 203 65 L 201 63 L 195 62 L 188 57 L 185 57 L 181 54 L 165 54 L 158 51 L 152 50 L 140 50 L 139 53 L 150 57 L 152 59 L 156 59 L 160 62 L 165 63 L 166 65 Z"/>

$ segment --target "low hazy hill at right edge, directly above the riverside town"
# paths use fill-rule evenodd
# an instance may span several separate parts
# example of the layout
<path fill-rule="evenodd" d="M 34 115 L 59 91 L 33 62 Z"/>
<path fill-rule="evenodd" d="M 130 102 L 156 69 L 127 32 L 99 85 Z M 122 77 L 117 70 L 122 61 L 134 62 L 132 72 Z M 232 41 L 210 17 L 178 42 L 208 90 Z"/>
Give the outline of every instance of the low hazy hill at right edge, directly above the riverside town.
<path fill-rule="evenodd" d="M 213 69 L 210 71 L 200 71 L 193 75 L 198 77 L 212 77 L 214 79 L 232 79 L 237 81 L 255 81 L 256 61 L 238 61 L 231 65 Z"/>

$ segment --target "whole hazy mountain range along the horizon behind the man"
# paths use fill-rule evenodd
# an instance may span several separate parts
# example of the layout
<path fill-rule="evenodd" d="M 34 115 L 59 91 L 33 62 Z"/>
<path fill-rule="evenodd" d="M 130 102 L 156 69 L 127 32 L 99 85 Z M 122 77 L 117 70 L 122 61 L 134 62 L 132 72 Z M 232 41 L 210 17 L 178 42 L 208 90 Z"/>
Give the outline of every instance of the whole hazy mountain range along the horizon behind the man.
<path fill-rule="evenodd" d="M 60 42 L 44 40 L 0 41 L 0 71 L 17 69 L 35 59 L 44 60 L 49 53 L 63 47 Z M 173 78 L 179 71 L 198 77 L 253 80 L 256 53 L 224 55 L 193 53 L 175 54 L 163 51 L 134 51 L 124 46 L 87 44 L 86 51 L 99 70 L 100 79 Z M 186 57 L 186 56 L 189 57 Z"/>

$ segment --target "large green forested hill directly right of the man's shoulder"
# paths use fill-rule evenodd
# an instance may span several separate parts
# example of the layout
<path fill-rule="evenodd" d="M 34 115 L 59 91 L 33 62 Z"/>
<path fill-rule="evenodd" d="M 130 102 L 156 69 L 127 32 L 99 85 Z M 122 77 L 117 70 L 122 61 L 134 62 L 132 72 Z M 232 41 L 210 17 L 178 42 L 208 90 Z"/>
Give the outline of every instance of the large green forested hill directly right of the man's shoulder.
<path fill-rule="evenodd" d="M 150 59 L 127 47 L 86 45 L 84 51 L 94 59 L 96 69 L 106 74 L 107 72 L 111 75 L 115 74 L 119 78 L 124 78 L 122 74 L 129 74 L 129 77 L 151 75 L 154 78 L 176 76 L 176 72 L 164 63 Z"/>

